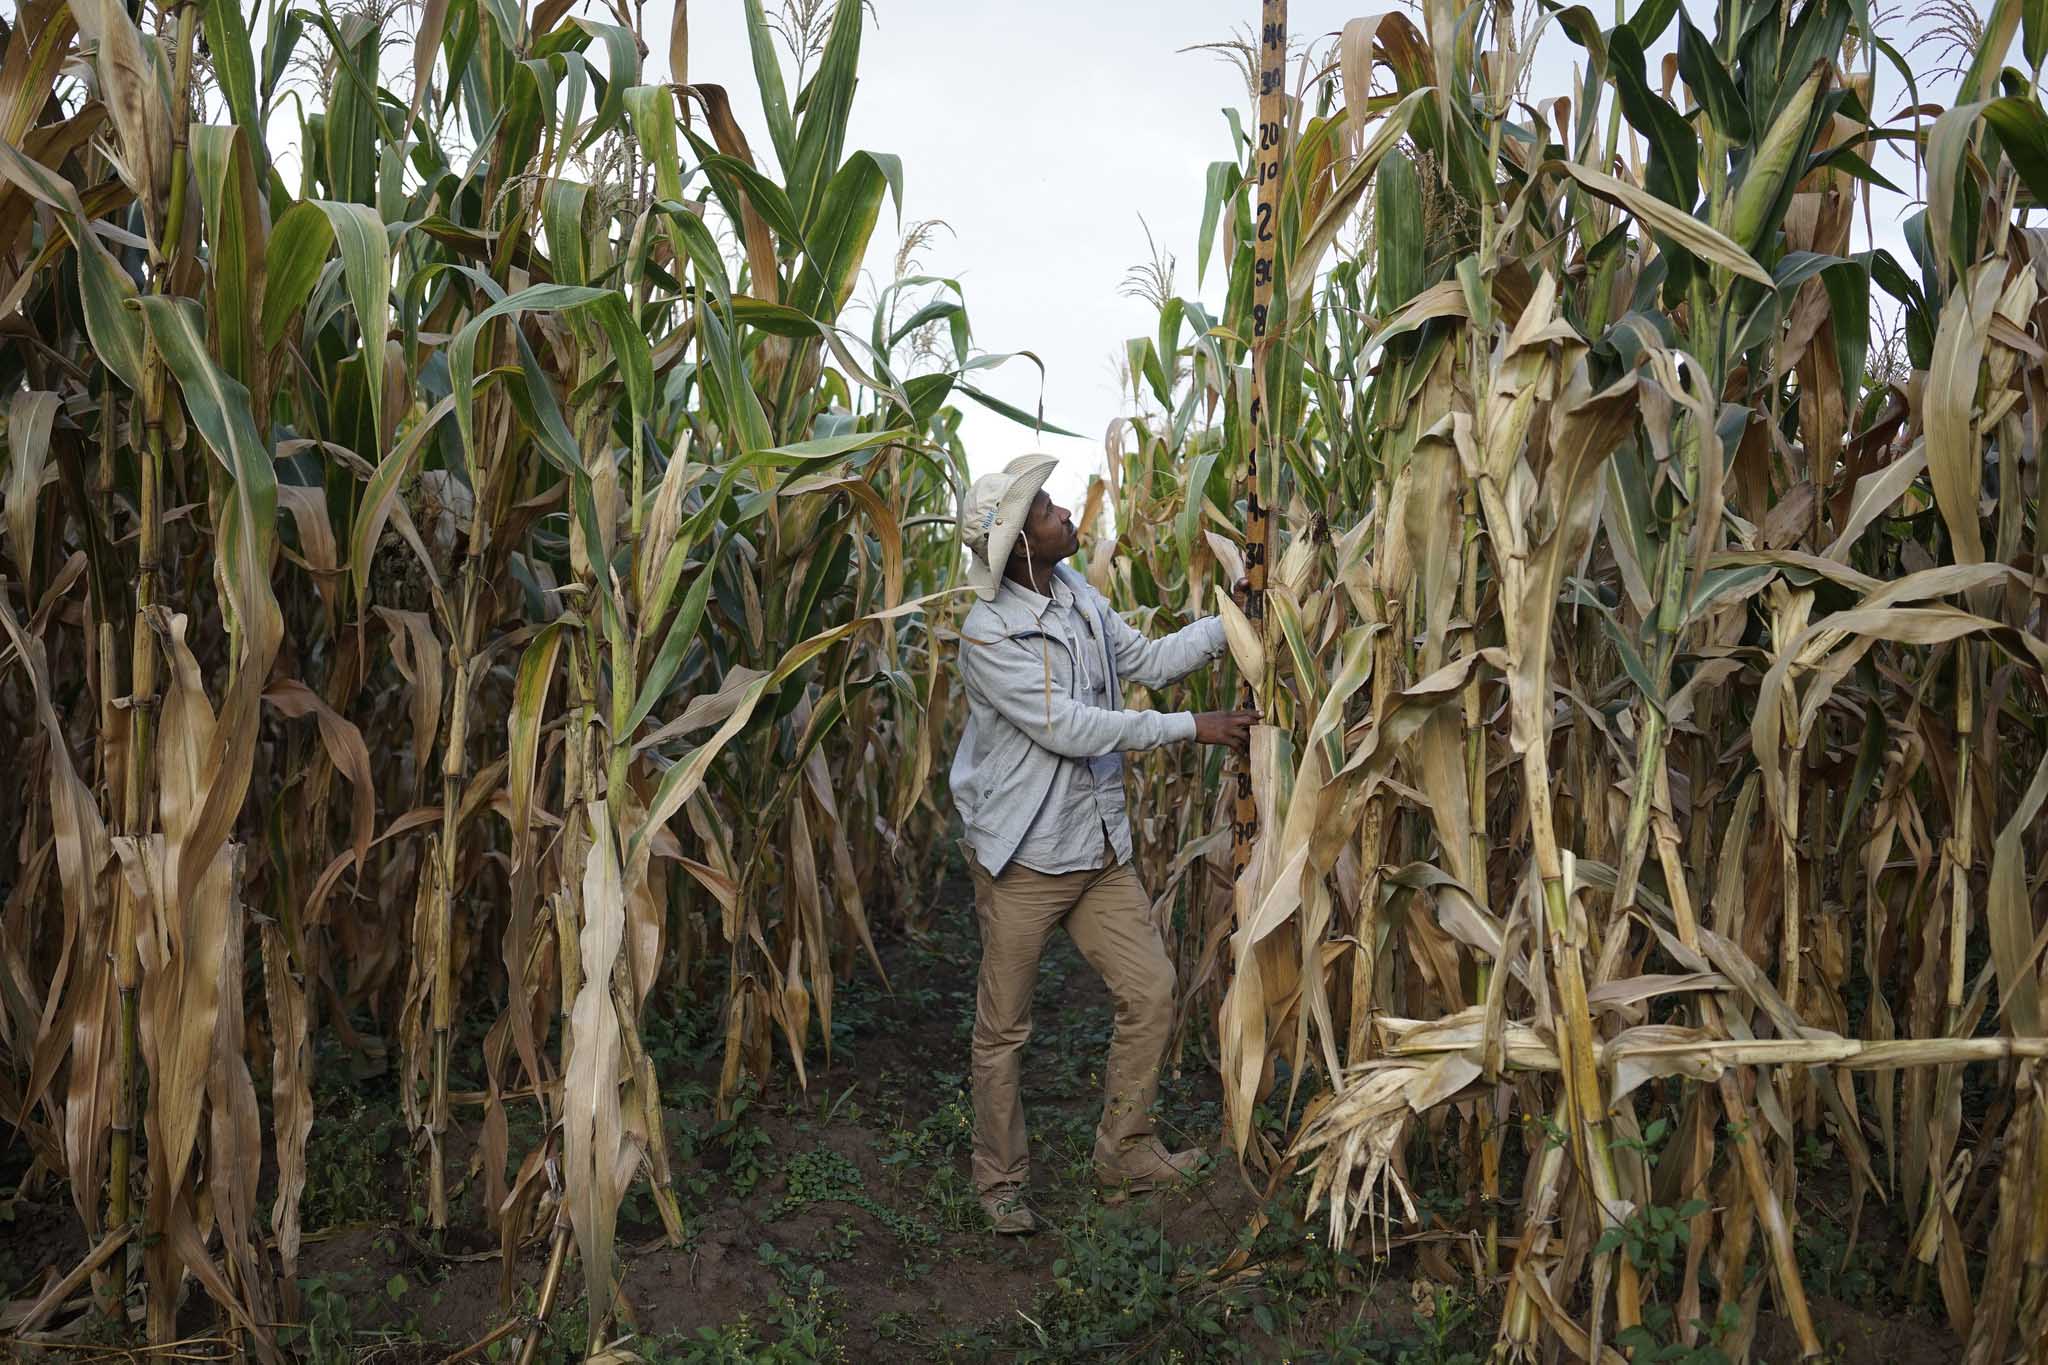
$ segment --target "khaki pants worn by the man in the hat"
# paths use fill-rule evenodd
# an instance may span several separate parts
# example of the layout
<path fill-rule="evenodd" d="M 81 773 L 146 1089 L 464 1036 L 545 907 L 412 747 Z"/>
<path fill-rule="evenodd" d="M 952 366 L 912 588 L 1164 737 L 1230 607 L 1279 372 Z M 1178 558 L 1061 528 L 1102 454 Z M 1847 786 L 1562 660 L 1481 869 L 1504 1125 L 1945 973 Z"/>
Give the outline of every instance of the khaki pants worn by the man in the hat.
<path fill-rule="evenodd" d="M 1114 857 L 1114 853 L 1112 853 Z M 975 1185 L 981 1191 L 1026 1185 L 1030 1146 L 1018 1072 L 1030 1038 L 1030 997 L 1038 958 L 1061 923 L 1116 999 L 1116 1033 L 1104 1070 L 1096 1164 L 1110 1164 L 1133 1138 L 1153 1132 L 1174 1021 L 1174 960 L 1167 958 L 1151 900 L 1128 864 L 1049 876 L 1018 864 L 989 878 L 969 857 L 975 915 L 981 919 L 981 984 L 975 999 Z"/>

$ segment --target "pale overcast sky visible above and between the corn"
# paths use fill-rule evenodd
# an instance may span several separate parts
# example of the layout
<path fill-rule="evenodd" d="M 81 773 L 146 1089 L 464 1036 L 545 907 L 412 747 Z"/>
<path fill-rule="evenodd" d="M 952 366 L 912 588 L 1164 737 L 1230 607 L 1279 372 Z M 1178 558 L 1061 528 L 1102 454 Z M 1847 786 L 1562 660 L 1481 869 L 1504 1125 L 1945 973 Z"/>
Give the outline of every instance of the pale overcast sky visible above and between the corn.
<path fill-rule="evenodd" d="M 1294 0 L 1290 35 L 1323 39 L 1370 8 Z M 1710 6 L 1692 0 L 1688 8 L 1712 31 Z M 1233 156 L 1223 106 L 1247 102 L 1237 68 L 1217 53 L 1180 49 L 1229 39 L 1255 18 L 1253 0 L 872 0 L 848 149 L 903 158 L 903 221 L 944 219 L 950 227 L 920 252 L 926 272 L 961 280 L 979 348 L 1038 354 L 1047 422 L 1081 434 L 1036 436 L 963 403 L 977 473 L 1044 448 L 1063 460 L 1055 491 L 1079 495 L 1102 469 L 1104 428 L 1128 401 L 1116 356 L 1126 338 L 1155 329 L 1151 309 L 1122 297 L 1120 284 L 1147 260 L 1149 225 L 1159 250 L 1180 262 L 1178 293 L 1196 295 L 1204 172 Z M 668 20 L 666 0 L 653 0 L 649 80 L 666 74 Z M 1898 29 L 1892 41 L 1905 47 L 1905 20 Z M 1673 41 L 1675 27 L 1661 51 Z M 1554 27 L 1538 53 L 1534 90 L 1571 90 L 1573 61 L 1583 53 Z M 1880 117 L 1907 102 L 1886 76 L 1880 70 Z M 739 0 L 690 6 L 690 80 L 723 84 L 756 156 L 772 156 Z M 1894 180 L 1905 174 L 1894 162 L 1886 170 Z M 1878 217 L 1878 246 L 1901 252 L 1901 213 Z M 887 272 L 895 241 L 885 203 L 870 264 Z M 1855 248 L 1864 246 L 1860 225 Z M 868 293 L 862 287 L 856 299 Z M 1217 258 L 1200 295 L 1212 303 L 1221 295 Z M 987 379 L 993 393 L 1026 409 L 1038 405 L 1038 385 L 1026 360 Z"/>

